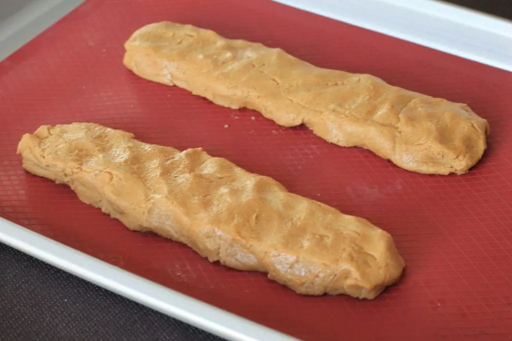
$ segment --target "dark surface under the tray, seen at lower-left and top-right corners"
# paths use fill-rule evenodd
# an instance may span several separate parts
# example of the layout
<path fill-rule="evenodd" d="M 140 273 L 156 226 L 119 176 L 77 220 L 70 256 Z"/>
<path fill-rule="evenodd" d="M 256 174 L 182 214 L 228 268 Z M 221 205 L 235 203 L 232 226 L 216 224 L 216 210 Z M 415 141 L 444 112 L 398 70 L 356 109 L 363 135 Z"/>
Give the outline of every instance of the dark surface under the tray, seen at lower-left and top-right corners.
<path fill-rule="evenodd" d="M 512 20 L 510 0 L 451 0 Z M 221 340 L 0 243 L 0 339 Z"/>

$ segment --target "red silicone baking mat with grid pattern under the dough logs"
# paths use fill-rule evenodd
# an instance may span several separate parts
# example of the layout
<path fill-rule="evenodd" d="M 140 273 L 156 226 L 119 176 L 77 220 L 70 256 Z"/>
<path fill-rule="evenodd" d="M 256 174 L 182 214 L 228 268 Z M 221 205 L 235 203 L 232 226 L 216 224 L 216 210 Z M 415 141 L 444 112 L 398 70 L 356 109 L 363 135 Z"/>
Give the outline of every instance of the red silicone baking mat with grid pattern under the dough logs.
<path fill-rule="evenodd" d="M 332 69 L 468 103 L 491 126 L 470 173 L 429 176 L 134 76 L 123 43 L 173 20 L 259 41 Z M 90 0 L 0 65 L 0 216 L 135 274 L 305 340 L 512 337 L 512 74 L 267 0 Z M 304 297 L 130 232 L 15 155 L 41 124 L 95 122 L 142 141 L 202 146 L 290 191 L 389 231 L 407 262 L 374 301 Z"/>

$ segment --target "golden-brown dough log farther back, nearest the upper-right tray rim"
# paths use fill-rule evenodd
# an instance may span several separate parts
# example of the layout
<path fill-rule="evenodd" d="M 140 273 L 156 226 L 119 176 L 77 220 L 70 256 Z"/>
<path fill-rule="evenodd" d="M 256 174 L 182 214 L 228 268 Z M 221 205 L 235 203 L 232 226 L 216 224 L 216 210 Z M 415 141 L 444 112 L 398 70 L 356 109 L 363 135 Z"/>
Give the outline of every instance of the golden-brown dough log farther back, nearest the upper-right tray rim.
<path fill-rule="evenodd" d="M 465 104 L 322 69 L 281 49 L 173 22 L 137 30 L 125 49 L 124 65 L 142 78 L 258 110 L 282 126 L 304 123 L 328 142 L 410 171 L 465 173 L 486 149 L 487 121 Z"/>

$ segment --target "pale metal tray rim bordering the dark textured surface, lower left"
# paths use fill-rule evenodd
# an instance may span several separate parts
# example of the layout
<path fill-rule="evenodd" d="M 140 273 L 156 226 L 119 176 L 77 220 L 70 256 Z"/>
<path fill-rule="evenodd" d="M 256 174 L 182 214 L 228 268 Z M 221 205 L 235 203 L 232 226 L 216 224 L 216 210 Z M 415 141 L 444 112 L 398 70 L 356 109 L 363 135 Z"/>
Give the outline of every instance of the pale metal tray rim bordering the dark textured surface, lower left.
<path fill-rule="evenodd" d="M 0 218 L 0 242 L 130 300 L 233 341 L 298 341 Z"/>

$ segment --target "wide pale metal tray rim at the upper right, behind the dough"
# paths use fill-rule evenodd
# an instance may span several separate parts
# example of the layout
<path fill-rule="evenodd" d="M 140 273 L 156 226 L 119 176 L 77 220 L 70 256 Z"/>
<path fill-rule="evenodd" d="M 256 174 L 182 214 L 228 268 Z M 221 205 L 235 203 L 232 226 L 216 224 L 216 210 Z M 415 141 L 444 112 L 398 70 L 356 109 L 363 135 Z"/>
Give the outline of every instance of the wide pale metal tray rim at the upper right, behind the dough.
<path fill-rule="evenodd" d="M 512 22 L 432 0 L 273 0 L 512 71 Z"/>

